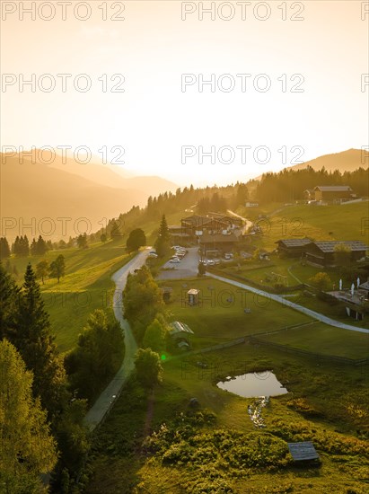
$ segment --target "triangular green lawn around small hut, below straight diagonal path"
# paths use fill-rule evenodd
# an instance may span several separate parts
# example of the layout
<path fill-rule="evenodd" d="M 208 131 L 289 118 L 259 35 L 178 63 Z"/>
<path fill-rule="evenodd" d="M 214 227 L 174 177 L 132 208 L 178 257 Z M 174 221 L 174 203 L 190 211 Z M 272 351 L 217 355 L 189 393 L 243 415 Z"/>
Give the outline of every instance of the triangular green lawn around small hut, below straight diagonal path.
<path fill-rule="evenodd" d="M 254 296 L 211 278 L 165 280 L 160 282 L 160 286 L 173 289 L 171 301 L 167 304 L 169 319 L 189 325 L 195 333 L 191 337 L 194 349 L 311 321 L 303 313 L 269 298 Z M 202 304 L 199 306 L 186 304 L 190 288 L 200 290 Z M 250 313 L 244 313 L 245 308 L 249 308 Z"/>

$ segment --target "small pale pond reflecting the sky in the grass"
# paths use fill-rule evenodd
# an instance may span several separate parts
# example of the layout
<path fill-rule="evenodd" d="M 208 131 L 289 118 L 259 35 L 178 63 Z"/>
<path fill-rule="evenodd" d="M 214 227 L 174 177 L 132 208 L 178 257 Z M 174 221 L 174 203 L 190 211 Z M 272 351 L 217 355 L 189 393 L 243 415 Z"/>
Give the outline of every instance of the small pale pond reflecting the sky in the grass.
<path fill-rule="evenodd" d="M 225 381 L 220 381 L 216 385 L 218 388 L 244 398 L 278 396 L 288 393 L 271 371 L 251 372 L 236 377 L 228 376 Z"/>

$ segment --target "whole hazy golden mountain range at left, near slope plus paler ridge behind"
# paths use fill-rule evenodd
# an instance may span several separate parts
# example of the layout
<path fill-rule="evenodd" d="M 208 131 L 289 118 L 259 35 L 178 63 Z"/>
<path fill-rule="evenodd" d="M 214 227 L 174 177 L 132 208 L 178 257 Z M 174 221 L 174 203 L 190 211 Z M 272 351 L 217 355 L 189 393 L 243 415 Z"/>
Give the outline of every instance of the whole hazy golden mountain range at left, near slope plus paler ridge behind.
<path fill-rule="evenodd" d="M 133 177 L 119 166 L 102 165 L 98 163 L 78 163 L 61 155 L 55 155 L 53 163 L 47 163 L 51 155 L 36 154 L 41 161 L 20 156 L 13 157 L 0 154 L 1 159 L 1 216 L 14 218 L 8 220 L 17 224 L 16 228 L 4 231 L 4 219 L 0 236 L 12 240 L 17 234 L 27 234 L 29 238 L 44 235 L 44 231 L 32 233 L 31 228 L 19 230 L 20 218 L 24 225 L 31 224 L 31 218 L 40 220 L 49 217 L 57 226 L 56 231 L 48 238 L 58 240 L 78 234 L 74 227 L 78 218 L 85 217 L 92 225 L 92 232 L 101 228 L 104 220 L 119 216 L 132 206 L 144 207 L 147 198 L 152 195 L 177 189 L 177 185 L 160 177 Z M 66 222 L 66 232 L 62 231 L 62 223 L 58 217 L 72 218 Z M 50 223 L 45 220 L 44 230 Z M 86 223 L 80 222 L 80 230 L 85 229 Z M 83 232 L 81 232 L 83 233 Z M 47 235 L 45 234 L 45 237 Z"/>

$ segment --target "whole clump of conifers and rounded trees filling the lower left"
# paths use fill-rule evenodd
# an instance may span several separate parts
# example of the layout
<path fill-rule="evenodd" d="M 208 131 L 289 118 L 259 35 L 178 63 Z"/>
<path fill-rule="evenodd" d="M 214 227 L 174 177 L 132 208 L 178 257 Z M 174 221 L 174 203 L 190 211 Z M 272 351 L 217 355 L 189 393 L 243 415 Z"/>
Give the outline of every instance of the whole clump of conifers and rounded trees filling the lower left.
<path fill-rule="evenodd" d="M 77 348 L 62 357 L 29 263 L 22 287 L 0 262 L 0 486 L 9 494 L 80 492 L 90 449 L 88 404 L 117 372 L 123 336 L 103 311 L 90 316 Z"/>

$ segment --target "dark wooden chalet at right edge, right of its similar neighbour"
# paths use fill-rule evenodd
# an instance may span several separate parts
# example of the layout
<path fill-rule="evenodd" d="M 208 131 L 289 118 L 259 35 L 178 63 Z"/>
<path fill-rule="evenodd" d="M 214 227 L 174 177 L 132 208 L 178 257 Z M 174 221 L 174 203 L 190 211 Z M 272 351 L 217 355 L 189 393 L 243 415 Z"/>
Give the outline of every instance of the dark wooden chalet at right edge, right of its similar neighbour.
<path fill-rule="evenodd" d="M 309 264 L 318 267 L 335 266 L 335 249 L 338 244 L 345 245 L 350 251 L 350 260 L 355 262 L 365 257 L 369 247 L 365 243 L 354 241 L 324 241 L 307 243 L 303 255 Z"/>

